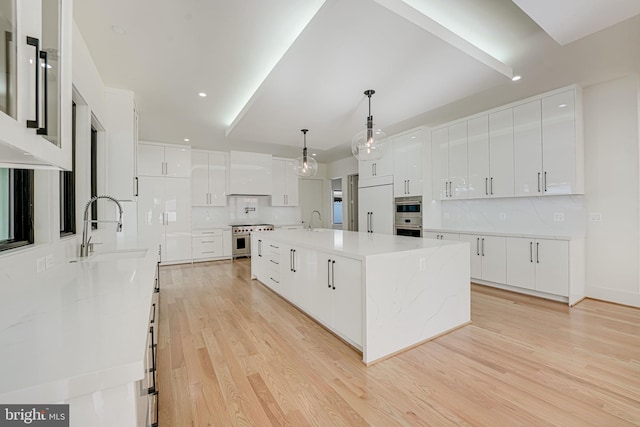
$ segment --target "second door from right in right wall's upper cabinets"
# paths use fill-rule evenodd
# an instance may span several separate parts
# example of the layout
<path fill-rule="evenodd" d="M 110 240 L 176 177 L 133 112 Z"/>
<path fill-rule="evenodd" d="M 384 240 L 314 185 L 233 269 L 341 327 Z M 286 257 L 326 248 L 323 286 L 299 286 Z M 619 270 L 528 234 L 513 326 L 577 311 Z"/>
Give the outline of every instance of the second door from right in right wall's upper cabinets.
<path fill-rule="evenodd" d="M 515 195 L 542 195 L 540 100 L 513 108 L 513 160 Z"/>

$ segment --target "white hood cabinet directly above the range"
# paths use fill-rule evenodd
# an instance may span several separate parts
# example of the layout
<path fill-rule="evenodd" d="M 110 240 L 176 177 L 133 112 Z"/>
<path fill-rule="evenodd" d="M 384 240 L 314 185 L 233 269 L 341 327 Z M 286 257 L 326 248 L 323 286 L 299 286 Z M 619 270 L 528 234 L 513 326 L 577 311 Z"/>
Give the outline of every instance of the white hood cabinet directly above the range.
<path fill-rule="evenodd" d="M 231 151 L 229 153 L 229 194 L 270 195 L 272 193 L 271 154 Z"/>

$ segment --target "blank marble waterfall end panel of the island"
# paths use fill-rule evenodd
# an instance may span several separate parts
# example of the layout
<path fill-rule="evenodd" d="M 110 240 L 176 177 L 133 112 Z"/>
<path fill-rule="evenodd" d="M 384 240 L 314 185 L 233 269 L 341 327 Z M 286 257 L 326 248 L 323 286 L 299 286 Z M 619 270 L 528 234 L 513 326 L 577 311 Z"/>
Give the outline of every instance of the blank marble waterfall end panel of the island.
<path fill-rule="evenodd" d="M 469 266 L 467 242 L 366 257 L 363 361 L 468 324 Z"/>

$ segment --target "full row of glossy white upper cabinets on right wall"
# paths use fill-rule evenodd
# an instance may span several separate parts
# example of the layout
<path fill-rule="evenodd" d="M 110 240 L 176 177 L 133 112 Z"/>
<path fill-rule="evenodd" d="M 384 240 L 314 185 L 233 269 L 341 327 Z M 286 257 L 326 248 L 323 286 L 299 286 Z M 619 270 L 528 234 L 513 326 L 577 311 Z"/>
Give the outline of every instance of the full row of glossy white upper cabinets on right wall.
<path fill-rule="evenodd" d="M 581 104 L 564 88 L 435 129 L 434 197 L 584 193 Z"/>

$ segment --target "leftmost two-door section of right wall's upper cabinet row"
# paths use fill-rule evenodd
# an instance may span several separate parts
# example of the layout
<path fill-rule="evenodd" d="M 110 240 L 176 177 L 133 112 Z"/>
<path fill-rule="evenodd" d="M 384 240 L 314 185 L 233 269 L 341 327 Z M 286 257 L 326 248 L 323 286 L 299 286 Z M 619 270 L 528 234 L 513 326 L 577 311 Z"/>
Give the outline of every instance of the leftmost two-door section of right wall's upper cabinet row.
<path fill-rule="evenodd" d="M 467 122 L 431 134 L 434 194 L 441 200 L 467 198 Z"/>

